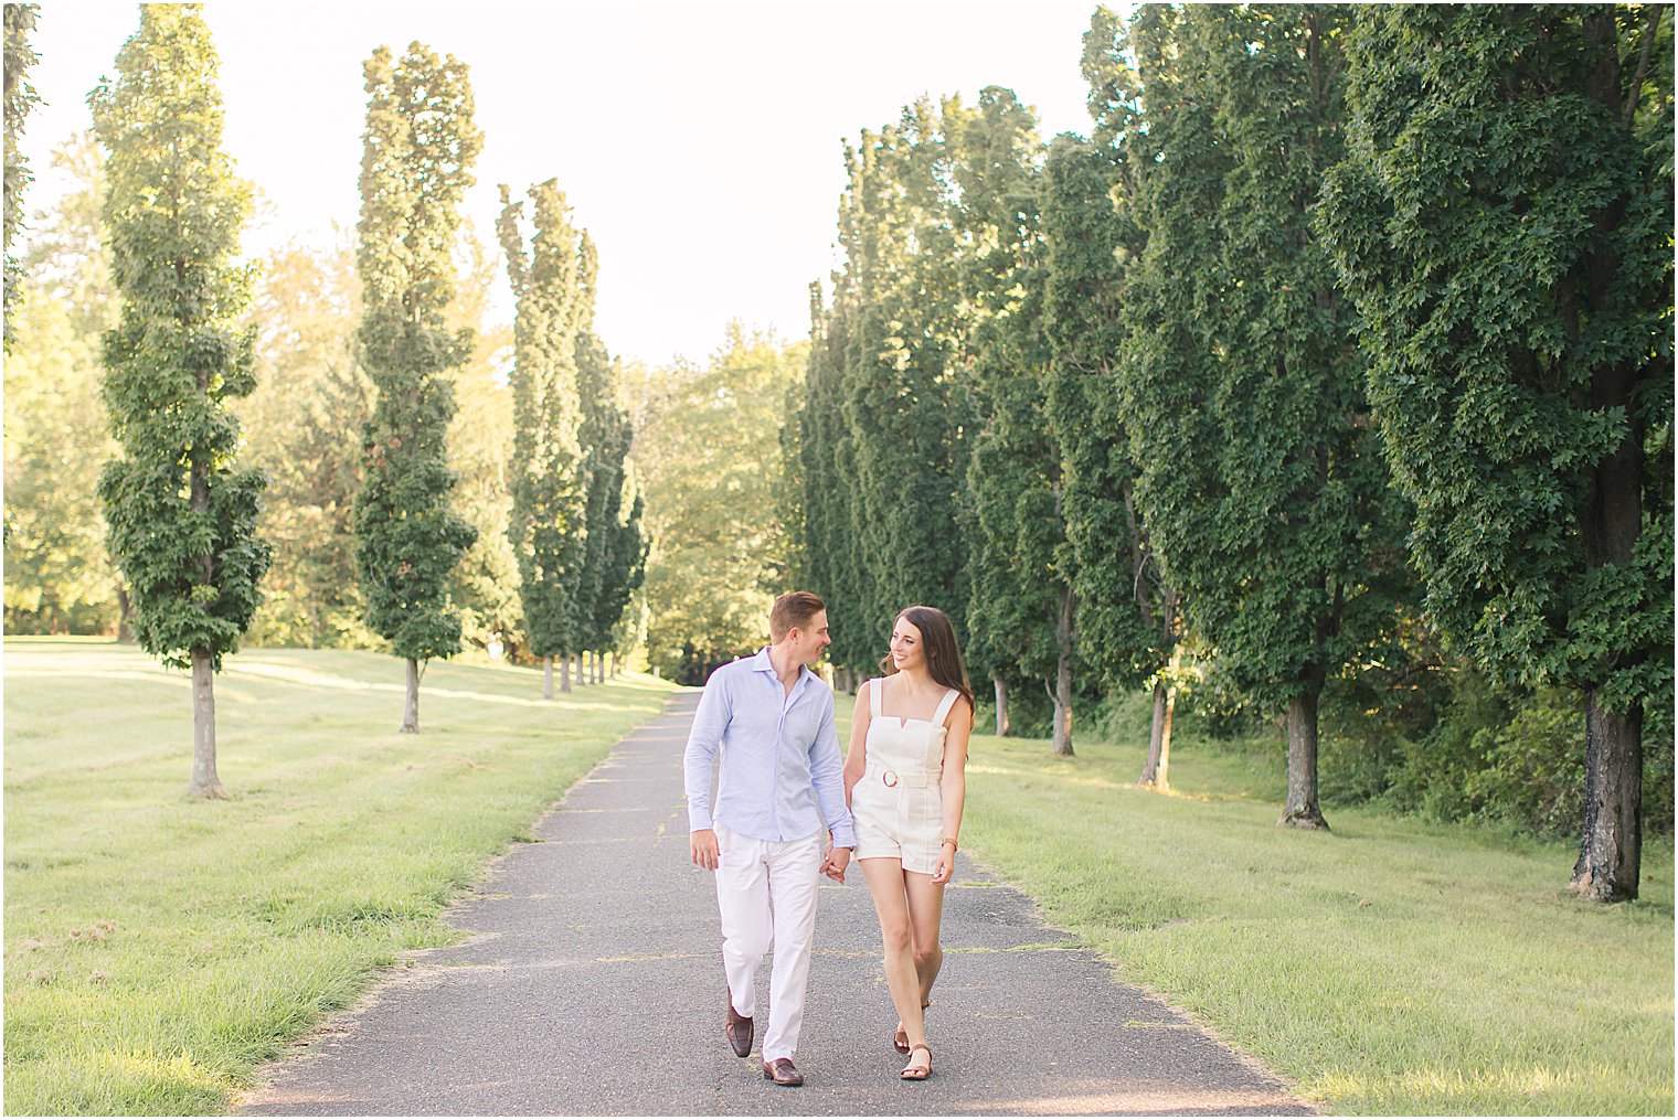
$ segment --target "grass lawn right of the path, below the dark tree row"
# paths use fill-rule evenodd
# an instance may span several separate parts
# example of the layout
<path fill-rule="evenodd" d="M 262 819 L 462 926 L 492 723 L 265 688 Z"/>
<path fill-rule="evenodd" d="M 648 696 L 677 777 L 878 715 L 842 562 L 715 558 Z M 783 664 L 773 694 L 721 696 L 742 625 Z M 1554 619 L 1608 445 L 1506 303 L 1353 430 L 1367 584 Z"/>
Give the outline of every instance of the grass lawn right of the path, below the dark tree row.
<path fill-rule="evenodd" d="M 849 713 L 849 703 L 841 701 Z M 1337 1113 L 1673 1115 L 1673 850 L 1638 902 L 1566 892 L 1577 847 L 1327 806 L 1275 827 L 1280 743 L 975 736 L 961 835 L 1044 917 Z"/>

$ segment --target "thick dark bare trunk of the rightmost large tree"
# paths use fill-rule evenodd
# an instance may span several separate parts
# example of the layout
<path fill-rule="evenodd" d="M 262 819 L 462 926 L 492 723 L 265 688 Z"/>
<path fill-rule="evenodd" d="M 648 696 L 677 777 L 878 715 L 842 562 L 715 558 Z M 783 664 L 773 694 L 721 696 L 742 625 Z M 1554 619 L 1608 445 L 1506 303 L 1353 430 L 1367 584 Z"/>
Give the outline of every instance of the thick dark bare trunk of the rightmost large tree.
<path fill-rule="evenodd" d="M 1584 835 L 1567 885 L 1594 902 L 1629 902 L 1643 855 L 1643 709 L 1604 711 L 1591 689 L 1584 744 Z"/>

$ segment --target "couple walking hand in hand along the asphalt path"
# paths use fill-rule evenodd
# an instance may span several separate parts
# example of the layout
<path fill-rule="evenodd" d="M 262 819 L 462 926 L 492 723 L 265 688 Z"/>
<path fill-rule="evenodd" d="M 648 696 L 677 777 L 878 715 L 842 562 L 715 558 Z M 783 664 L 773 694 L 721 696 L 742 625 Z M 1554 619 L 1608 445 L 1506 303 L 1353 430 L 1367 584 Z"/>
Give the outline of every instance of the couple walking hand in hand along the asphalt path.
<path fill-rule="evenodd" d="M 757 967 L 774 944 L 763 1076 L 802 1085 L 792 1065 L 816 932 L 816 885 L 844 882 L 854 857 L 884 942 L 898 1011 L 891 1045 L 903 1080 L 931 1073 L 925 1008 L 943 964 L 938 920 L 961 828 L 973 689 L 950 619 L 906 607 L 857 689 L 841 758 L 834 694 L 809 666 L 829 644 L 827 609 L 809 592 L 775 600 L 770 644 L 705 682 L 683 758 L 693 862 L 717 874 L 728 974 L 725 1034 L 752 1053 Z M 720 760 L 717 805 L 711 765 Z"/>

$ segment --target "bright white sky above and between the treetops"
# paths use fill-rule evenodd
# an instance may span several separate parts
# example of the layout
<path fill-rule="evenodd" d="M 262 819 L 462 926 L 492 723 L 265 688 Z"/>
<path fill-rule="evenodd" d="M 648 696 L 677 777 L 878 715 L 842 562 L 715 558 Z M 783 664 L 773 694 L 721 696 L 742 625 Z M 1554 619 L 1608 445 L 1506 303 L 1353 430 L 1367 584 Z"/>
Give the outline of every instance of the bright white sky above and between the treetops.
<path fill-rule="evenodd" d="M 809 332 L 809 283 L 836 262 L 841 143 L 916 96 L 972 104 L 1007 86 L 1045 137 L 1087 132 L 1077 62 L 1094 7 L 211 0 L 205 18 L 227 149 L 268 203 L 248 253 L 354 226 L 361 65 L 379 44 L 399 55 L 418 39 L 472 67 L 478 236 L 495 236 L 498 183 L 517 196 L 557 178 L 599 245 L 599 334 L 614 354 L 664 362 L 703 359 L 732 319 L 787 340 Z M 40 3 L 29 211 L 64 189 L 50 151 L 91 127 L 87 92 L 138 25 L 134 3 Z"/>

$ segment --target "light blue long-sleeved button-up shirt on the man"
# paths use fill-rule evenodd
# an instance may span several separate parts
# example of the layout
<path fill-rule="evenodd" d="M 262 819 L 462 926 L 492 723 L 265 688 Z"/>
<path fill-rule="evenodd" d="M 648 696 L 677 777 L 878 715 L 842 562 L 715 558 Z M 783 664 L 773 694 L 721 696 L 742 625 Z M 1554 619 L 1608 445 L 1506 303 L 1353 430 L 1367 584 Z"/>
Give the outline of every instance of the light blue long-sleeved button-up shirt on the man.
<path fill-rule="evenodd" d="M 718 753 L 722 770 L 711 811 L 711 760 Z M 722 822 L 753 840 L 804 840 L 819 833 L 826 820 L 834 847 L 856 847 L 844 803 L 834 692 L 809 666 L 799 667 L 799 681 L 787 692 L 767 646 L 755 657 L 723 666 L 705 682 L 683 771 L 693 832 Z"/>

